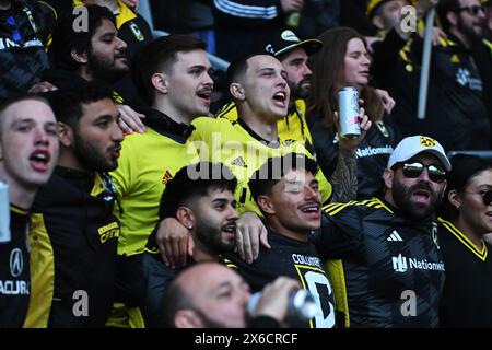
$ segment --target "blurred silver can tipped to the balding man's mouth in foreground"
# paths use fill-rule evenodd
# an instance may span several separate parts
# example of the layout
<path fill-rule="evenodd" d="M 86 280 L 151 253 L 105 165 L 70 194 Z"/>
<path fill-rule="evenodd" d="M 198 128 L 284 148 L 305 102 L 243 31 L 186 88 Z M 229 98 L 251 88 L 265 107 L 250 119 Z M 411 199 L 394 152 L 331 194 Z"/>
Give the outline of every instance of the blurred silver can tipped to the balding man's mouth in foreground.
<path fill-rule="evenodd" d="M 257 292 L 248 300 L 247 312 L 251 316 L 255 314 L 261 292 Z M 293 292 L 289 298 L 288 318 L 308 320 L 320 312 L 313 294 L 304 289 Z"/>

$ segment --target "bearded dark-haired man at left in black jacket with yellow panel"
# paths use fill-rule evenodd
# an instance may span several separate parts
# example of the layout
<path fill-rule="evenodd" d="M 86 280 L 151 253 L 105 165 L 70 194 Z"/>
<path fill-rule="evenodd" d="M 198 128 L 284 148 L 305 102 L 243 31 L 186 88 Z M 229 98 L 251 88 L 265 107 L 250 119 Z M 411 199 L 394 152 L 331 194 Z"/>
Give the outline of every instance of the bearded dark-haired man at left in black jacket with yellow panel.
<path fill-rule="evenodd" d="M 49 98 L 60 156 L 33 206 L 33 293 L 24 326 L 103 327 L 113 305 L 119 235 L 107 174 L 118 166 L 119 113 L 110 90 L 95 83 Z"/>

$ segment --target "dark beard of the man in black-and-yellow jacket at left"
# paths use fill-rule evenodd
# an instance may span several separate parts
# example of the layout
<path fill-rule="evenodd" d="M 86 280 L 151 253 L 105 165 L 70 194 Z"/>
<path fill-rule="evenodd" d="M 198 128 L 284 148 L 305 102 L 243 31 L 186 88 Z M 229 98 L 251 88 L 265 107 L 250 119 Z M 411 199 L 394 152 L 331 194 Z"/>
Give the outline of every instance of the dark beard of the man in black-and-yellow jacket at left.
<path fill-rule="evenodd" d="M 117 145 L 115 144 L 115 148 Z M 86 170 L 93 172 L 112 172 L 118 167 L 118 161 L 104 156 L 97 149 L 85 142 L 74 130 L 73 152 Z"/>

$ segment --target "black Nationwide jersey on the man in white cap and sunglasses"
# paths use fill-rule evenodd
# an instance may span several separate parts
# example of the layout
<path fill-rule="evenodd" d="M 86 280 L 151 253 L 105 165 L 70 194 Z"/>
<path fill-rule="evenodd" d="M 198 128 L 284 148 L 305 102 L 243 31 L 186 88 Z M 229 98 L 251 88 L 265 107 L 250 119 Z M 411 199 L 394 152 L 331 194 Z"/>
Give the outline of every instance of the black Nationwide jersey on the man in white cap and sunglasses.
<path fill-rule="evenodd" d="M 321 256 L 350 327 L 437 327 L 444 262 L 434 220 L 412 221 L 373 198 L 324 208 Z M 338 310 L 340 305 L 338 305 Z"/>

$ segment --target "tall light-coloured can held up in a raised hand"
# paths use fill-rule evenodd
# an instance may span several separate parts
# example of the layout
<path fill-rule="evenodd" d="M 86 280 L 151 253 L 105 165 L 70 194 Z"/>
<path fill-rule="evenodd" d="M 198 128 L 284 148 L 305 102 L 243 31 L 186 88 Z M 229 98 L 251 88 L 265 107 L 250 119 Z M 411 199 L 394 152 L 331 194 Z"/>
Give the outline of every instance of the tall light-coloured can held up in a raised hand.
<path fill-rule="evenodd" d="M 356 139 L 361 135 L 359 120 L 359 92 L 355 88 L 343 88 L 338 92 L 338 116 L 340 137 Z"/>

